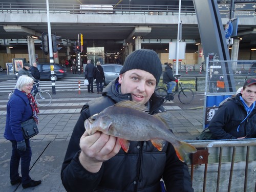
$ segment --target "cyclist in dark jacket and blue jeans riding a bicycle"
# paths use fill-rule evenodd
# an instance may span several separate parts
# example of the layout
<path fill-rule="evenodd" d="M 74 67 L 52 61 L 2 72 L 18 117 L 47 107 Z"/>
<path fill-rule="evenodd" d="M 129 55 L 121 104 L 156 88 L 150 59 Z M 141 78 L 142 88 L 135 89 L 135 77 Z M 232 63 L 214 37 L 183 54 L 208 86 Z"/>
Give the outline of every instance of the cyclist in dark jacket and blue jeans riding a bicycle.
<path fill-rule="evenodd" d="M 168 63 L 163 73 L 163 83 L 166 83 L 167 85 L 167 93 L 173 93 L 173 89 L 176 86 L 177 79 L 174 77 L 172 66 L 172 63 Z"/>

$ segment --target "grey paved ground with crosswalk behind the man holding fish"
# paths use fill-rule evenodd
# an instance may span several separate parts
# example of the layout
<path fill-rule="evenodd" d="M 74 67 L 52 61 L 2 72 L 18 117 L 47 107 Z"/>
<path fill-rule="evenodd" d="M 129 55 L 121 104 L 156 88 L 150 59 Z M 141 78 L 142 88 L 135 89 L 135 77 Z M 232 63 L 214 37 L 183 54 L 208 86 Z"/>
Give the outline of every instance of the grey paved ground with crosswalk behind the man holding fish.
<path fill-rule="evenodd" d="M 98 97 L 97 94 L 65 92 L 53 95 L 53 106 L 40 108 L 39 134 L 31 139 L 32 160 L 30 176 L 42 180 L 26 191 L 66 191 L 61 183 L 60 169 L 73 127 L 79 118 L 81 106 Z M 11 143 L 4 137 L 6 123 L 6 96 L 0 101 L 0 191 L 23 191 L 21 185 L 10 184 L 9 164 Z M 191 105 L 193 107 L 193 105 Z M 168 103 L 168 113 L 174 120 L 174 134 L 182 140 L 194 140 L 202 131 L 203 110 L 182 110 Z M 44 111 L 45 110 L 45 111 Z"/>

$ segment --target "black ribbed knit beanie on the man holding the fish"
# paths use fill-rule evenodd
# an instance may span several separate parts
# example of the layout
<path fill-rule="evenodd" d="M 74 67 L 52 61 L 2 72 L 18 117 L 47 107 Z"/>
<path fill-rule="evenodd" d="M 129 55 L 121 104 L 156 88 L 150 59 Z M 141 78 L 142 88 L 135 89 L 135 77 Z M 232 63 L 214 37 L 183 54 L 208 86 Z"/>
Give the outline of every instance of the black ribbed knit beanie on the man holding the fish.
<path fill-rule="evenodd" d="M 139 49 L 132 52 L 124 61 L 120 75 L 132 69 L 151 73 L 156 78 L 157 84 L 162 74 L 162 64 L 157 53 L 149 49 Z"/>

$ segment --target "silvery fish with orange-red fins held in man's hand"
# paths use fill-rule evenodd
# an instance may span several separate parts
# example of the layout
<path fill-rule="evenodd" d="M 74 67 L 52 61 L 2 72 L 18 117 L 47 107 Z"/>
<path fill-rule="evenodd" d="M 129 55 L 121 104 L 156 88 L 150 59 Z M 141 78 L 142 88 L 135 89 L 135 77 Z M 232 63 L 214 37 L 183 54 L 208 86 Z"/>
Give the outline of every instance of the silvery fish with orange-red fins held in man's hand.
<path fill-rule="evenodd" d="M 129 150 L 129 141 L 151 141 L 162 151 L 165 141 L 172 143 L 178 158 L 184 162 L 186 154 L 196 153 L 193 145 L 177 138 L 172 116 L 168 112 L 150 115 L 143 104 L 136 101 L 120 101 L 84 121 L 89 135 L 99 131 L 117 137 L 124 152 Z"/>

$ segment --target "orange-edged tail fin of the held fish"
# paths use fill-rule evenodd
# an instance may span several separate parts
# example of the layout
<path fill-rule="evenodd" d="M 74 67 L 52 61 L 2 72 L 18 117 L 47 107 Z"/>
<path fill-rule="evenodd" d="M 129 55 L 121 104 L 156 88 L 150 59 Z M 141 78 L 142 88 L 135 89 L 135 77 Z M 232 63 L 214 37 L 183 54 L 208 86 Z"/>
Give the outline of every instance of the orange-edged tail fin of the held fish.
<path fill-rule="evenodd" d="M 184 141 L 180 141 L 180 144 L 177 146 L 174 146 L 174 148 L 175 148 L 176 155 L 182 162 L 185 162 L 186 154 L 197 152 L 197 149 L 194 146 Z"/>

